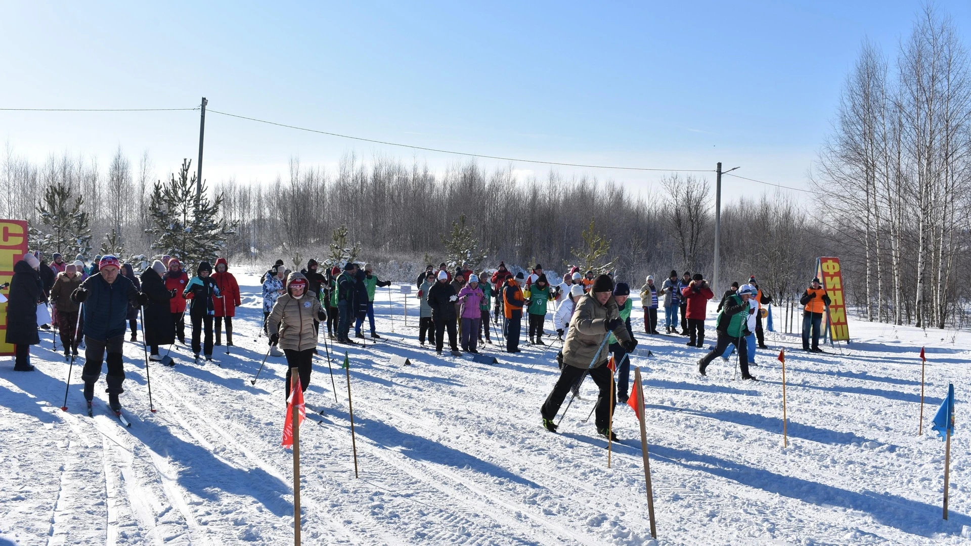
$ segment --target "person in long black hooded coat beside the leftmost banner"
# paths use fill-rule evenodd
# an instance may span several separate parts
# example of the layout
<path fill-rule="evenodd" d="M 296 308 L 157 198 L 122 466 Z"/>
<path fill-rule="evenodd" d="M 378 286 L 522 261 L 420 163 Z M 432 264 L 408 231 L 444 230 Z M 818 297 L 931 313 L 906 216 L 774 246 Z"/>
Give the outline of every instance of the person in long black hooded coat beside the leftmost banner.
<path fill-rule="evenodd" d="M 38 269 L 41 260 L 30 253 L 14 264 L 7 296 L 7 343 L 15 345 L 14 369 L 32 371 L 30 346 L 41 343 L 37 330 L 37 304 L 45 300 Z"/>

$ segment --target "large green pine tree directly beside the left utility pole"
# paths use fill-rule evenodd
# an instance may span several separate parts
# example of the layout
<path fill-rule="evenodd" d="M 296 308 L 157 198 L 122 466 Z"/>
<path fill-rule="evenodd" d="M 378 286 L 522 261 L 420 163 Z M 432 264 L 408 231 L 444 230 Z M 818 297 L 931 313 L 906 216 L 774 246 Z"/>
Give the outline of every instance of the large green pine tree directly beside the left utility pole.
<path fill-rule="evenodd" d="M 218 220 L 222 195 L 210 202 L 206 186 L 195 191 L 195 173 L 189 173 L 191 160 L 184 159 L 179 178 L 155 183 L 151 192 L 149 214 L 154 225 L 146 229 L 155 237 L 152 249 L 178 257 L 183 263 L 213 262 L 226 244 L 226 235 L 236 232 L 236 222 Z"/>

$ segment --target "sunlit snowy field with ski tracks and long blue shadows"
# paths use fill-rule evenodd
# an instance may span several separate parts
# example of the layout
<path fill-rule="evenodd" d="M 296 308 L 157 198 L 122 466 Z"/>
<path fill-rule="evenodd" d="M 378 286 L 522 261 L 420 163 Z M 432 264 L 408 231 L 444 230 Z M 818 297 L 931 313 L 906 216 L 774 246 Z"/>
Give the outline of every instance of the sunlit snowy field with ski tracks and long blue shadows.
<path fill-rule="evenodd" d="M 84 415 L 77 365 L 61 412 L 68 366 L 51 351 L 50 333 L 32 349 L 37 371 L 15 372 L 3 358 L 0 545 L 292 543 L 292 462 L 280 446 L 285 359 L 269 358 L 251 386 L 267 346 L 256 336 L 257 278 L 238 278 L 237 347 L 228 356 L 216 348 L 221 367 L 193 365 L 184 347 L 173 351 L 177 366 L 153 363 L 156 414 L 142 345 L 125 342 L 128 429 L 104 403 L 94 419 Z M 323 416 L 300 432 L 305 544 L 653 544 L 630 408 L 618 406 L 621 443 L 608 469 L 606 441 L 592 420 L 582 423 L 592 382 L 560 434 L 540 425 L 556 349 L 524 344 L 510 356 L 486 346 L 495 365 L 437 358 L 419 348 L 414 294 L 405 327 L 404 296 L 390 290 L 392 323 L 388 293 L 379 289 L 376 302 L 385 340 L 349 350 L 359 479 L 345 376 L 331 349 L 335 402 L 320 345 L 307 402 Z M 732 381 L 734 360 L 716 359 L 699 376 L 702 350 L 686 348 L 684 337 L 645 335 L 638 303 L 632 361 L 644 373 L 659 544 L 971 543 L 963 411 L 971 333 L 851 321 L 848 348 L 807 355 L 796 336 L 767 332 L 774 350 L 758 354 L 753 375 L 762 381 L 751 383 Z M 793 349 L 787 448 L 781 346 Z M 928 365 L 918 436 L 921 346 Z M 392 355 L 414 365 L 392 365 Z M 929 426 L 949 382 L 957 407 L 945 522 L 944 443 Z M 107 400 L 103 376 L 96 398 Z"/>

